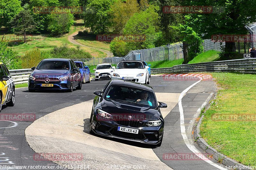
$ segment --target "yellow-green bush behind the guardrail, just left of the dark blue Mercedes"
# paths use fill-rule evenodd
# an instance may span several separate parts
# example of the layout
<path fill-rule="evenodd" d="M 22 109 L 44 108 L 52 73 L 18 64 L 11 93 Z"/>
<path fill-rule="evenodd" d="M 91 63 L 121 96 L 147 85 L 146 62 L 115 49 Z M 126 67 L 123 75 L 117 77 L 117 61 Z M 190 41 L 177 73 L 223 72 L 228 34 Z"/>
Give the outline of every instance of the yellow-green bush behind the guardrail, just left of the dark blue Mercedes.
<path fill-rule="evenodd" d="M 37 66 L 37 64 L 45 58 L 51 58 L 52 55 L 49 52 L 41 52 L 39 49 L 32 51 L 26 51 L 25 55 L 21 57 L 21 66 L 23 69 Z"/>

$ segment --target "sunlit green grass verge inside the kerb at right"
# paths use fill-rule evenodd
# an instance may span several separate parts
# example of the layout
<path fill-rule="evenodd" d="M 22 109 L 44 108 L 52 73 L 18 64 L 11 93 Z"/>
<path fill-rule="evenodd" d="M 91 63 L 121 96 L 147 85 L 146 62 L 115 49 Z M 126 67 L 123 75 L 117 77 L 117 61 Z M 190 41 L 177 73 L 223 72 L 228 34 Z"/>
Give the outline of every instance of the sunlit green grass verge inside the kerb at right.
<path fill-rule="evenodd" d="M 204 113 L 200 134 L 218 152 L 246 166 L 255 166 L 256 75 L 212 73 L 212 76 L 220 90 Z"/>

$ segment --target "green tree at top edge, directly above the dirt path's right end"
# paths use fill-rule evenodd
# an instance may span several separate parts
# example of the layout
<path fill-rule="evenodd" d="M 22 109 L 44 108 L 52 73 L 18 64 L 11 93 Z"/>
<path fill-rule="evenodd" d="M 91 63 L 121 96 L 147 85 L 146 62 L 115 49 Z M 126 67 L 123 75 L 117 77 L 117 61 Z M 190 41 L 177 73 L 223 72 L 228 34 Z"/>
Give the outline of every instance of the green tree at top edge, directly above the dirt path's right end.
<path fill-rule="evenodd" d="M 104 34 L 111 26 L 110 6 L 116 0 L 89 0 L 84 12 L 84 25 L 90 28 L 93 34 Z"/>

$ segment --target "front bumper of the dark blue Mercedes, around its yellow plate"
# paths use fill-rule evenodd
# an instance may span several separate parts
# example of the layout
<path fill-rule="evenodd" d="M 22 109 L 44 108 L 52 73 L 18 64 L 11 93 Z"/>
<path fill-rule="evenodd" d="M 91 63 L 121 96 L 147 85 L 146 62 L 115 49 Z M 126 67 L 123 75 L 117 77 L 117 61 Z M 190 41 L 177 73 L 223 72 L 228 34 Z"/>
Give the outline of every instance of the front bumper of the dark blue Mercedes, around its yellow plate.
<path fill-rule="evenodd" d="M 42 87 L 41 84 L 53 84 L 52 87 Z M 34 81 L 29 79 L 28 81 L 28 89 L 31 90 L 68 90 L 70 88 L 70 81 L 64 80 L 64 81 L 54 81 L 45 83 L 43 81 Z"/>

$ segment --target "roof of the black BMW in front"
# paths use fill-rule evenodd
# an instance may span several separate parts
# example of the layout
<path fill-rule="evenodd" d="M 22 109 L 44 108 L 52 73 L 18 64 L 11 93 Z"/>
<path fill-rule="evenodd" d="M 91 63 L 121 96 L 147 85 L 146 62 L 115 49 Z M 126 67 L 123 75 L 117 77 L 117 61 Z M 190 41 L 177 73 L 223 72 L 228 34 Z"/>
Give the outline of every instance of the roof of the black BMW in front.
<path fill-rule="evenodd" d="M 149 85 L 132 82 L 132 81 L 128 81 L 128 80 L 122 80 L 122 79 L 113 79 L 110 81 L 111 81 L 110 85 L 122 85 L 122 86 L 134 87 L 134 88 L 143 89 L 143 90 L 153 92 L 152 87 Z"/>

